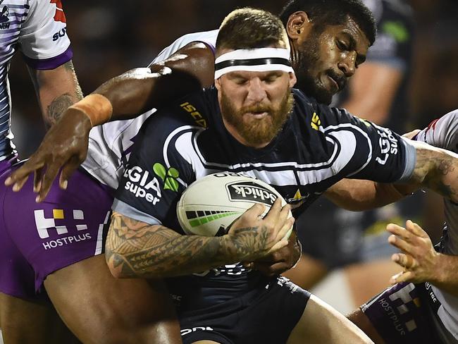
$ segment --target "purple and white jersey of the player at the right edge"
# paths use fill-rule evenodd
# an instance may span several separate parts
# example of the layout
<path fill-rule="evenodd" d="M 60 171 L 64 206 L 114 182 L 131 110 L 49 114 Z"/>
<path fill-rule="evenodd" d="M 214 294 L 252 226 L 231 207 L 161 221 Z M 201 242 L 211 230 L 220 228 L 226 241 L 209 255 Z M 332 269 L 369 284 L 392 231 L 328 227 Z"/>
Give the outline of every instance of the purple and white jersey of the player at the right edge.
<path fill-rule="evenodd" d="M 458 110 L 449 112 L 431 122 L 428 128 L 421 130 L 416 135 L 415 140 L 458 153 Z M 448 199 L 444 200 L 444 204 L 448 240 L 443 242 L 443 253 L 458 255 L 458 204 Z M 450 295 L 434 285 L 433 291 L 442 304 L 438 311 L 442 323 L 458 340 L 458 297 Z"/>

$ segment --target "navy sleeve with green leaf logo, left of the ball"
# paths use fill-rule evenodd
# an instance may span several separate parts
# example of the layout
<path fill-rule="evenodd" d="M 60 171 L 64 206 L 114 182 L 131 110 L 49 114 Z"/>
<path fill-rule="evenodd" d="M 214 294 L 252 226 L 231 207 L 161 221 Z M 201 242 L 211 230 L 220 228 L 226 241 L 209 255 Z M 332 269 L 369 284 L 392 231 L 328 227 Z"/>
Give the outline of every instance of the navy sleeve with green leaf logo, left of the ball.
<path fill-rule="evenodd" d="M 202 128 L 180 124 L 169 113 L 151 116 L 135 137 L 113 210 L 149 224 L 175 223 L 178 199 L 195 179 L 186 147 L 196 130 Z"/>

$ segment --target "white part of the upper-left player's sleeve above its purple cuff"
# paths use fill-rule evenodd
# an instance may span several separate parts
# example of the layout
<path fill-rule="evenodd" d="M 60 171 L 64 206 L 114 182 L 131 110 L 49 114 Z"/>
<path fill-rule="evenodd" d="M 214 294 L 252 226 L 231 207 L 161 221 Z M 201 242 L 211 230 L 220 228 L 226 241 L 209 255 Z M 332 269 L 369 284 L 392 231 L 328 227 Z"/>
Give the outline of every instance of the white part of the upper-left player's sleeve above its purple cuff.
<path fill-rule="evenodd" d="M 70 47 L 66 26 L 60 0 L 30 0 L 29 16 L 19 35 L 21 51 L 35 60 L 63 54 Z"/>

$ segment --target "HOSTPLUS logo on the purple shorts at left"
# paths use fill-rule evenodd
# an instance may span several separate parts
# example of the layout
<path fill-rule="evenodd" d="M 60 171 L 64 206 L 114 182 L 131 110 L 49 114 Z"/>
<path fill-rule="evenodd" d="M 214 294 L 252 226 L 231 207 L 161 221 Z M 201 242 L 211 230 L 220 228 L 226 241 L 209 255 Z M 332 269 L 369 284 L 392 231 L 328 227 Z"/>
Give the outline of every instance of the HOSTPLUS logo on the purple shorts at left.
<path fill-rule="evenodd" d="M 34 211 L 35 226 L 37 227 L 39 238 L 49 238 L 49 233 L 51 231 L 56 231 L 58 235 L 66 235 L 69 233 L 69 231 L 75 231 L 76 228 L 76 233 L 78 233 L 42 242 L 45 250 L 50 250 L 58 246 L 70 245 L 74 242 L 91 239 L 90 233 L 82 232 L 87 231 L 87 224 L 84 223 L 84 212 L 79 209 L 73 209 L 73 211 L 68 212 L 70 212 L 70 214 L 68 214 L 67 211 L 64 212 L 63 209 L 53 209 L 52 217 L 47 218 L 44 215 L 44 209 L 37 209 Z M 70 226 L 58 225 L 59 222 L 63 223 L 64 220 L 75 221 L 77 224 L 75 224 L 75 227 L 72 226 L 71 228 Z"/>

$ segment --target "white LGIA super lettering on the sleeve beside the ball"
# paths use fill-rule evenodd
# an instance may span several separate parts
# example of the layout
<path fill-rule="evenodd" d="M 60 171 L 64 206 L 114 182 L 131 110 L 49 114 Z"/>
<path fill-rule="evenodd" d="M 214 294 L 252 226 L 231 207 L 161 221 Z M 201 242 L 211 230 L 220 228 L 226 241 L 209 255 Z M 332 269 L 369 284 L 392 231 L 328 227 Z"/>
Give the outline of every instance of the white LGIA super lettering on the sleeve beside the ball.
<path fill-rule="evenodd" d="M 124 186 L 125 190 L 137 198 L 144 198 L 147 202 L 156 204 L 161 200 L 161 187 L 159 180 L 151 174 L 149 171 L 143 171 L 140 166 L 127 168 L 123 175 L 128 178 Z"/>

